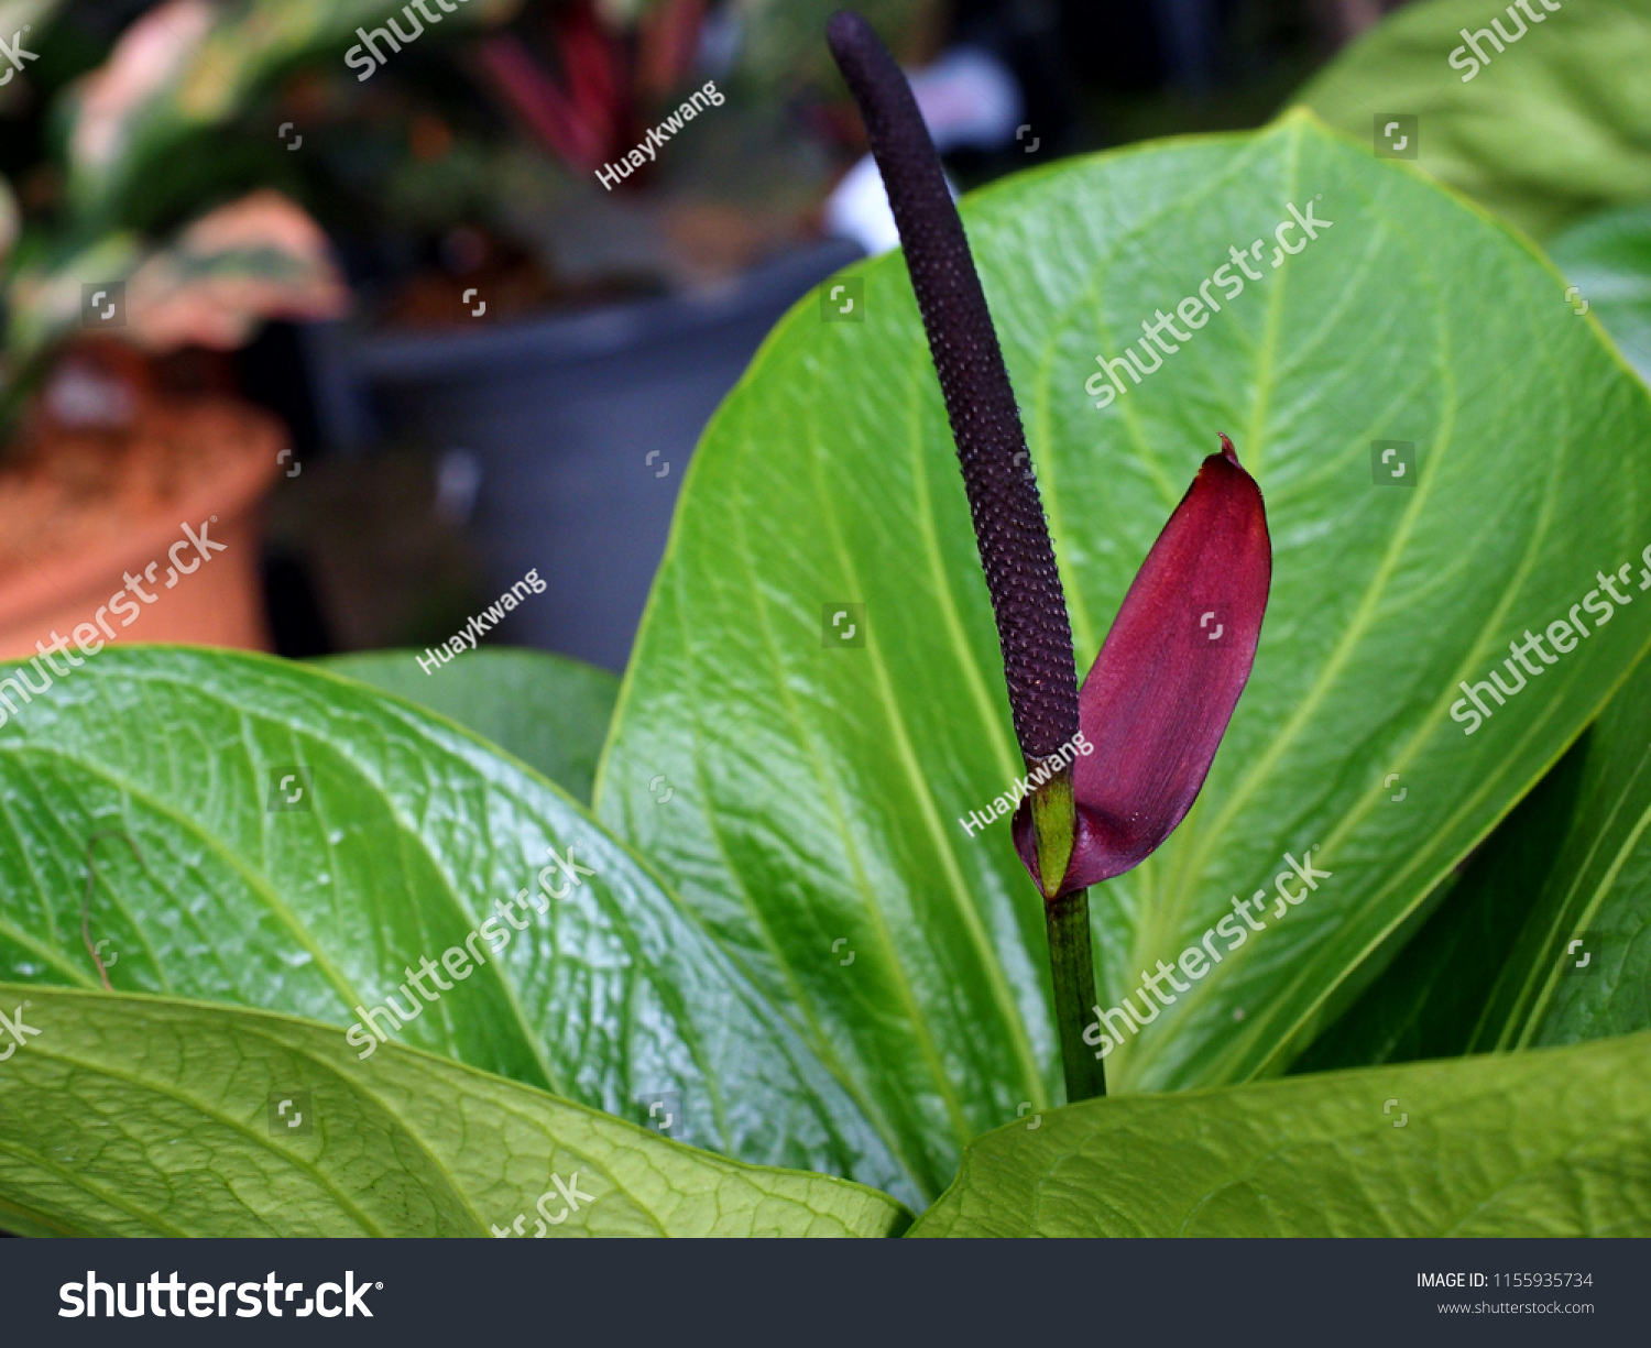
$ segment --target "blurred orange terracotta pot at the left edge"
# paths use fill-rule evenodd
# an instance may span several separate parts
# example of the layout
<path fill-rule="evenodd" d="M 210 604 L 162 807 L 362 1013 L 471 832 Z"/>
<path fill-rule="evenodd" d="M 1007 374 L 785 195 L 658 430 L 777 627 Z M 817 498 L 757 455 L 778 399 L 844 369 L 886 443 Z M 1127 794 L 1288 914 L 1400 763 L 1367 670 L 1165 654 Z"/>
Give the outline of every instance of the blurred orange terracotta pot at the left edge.
<path fill-rule="evenodd" d="M 269 650 L 259 582 L 259 505 L 282 472 L 277 455 L 286 436 L 276 421 L 243 404 L 215 401 L 172 409 L 167 416 L 185 436 L 215 437 L 210 459 L 193 480 L 178 482 L 175 490 L 139 493 L 135 503 L 97 500 L 86 513 L 99 521 L 107 516 L 107 523 L 88 520 L 94 531 L 59 538 L 45 556 L 13 556 L 0 573 L 0 658 L 33 657 L 36 642 L 51 645 L 53 632 L 74 640 L 79 629 L 88 643 L 107 640 L 96 625 L 99 609 L 106 609 L 104 624 L 116 634 L 111 643 Z M 38 478 L 25 487 L 0 475 L 0 493 L 7 490 L 41 498 L 41 516 L 76 516 L 73 493 L 43 487 Z M 188 526 L 200 535 L 203 523 L 206 538 L 225 544 L 223 551 L 210 548 L 206 561 L 198 559 L 185 533 Z M 168 559 L 175 544 L 182 546 Z M 180 569 L 195 566 L 168 589 L 173 561 Z M 154 602 L 129 592 L 125 574 L 135 576 Z M 111 612 L 111 599 L 117 596 L 122 607 Z M 135 617 L 127 606 L 137 607 Z"/>

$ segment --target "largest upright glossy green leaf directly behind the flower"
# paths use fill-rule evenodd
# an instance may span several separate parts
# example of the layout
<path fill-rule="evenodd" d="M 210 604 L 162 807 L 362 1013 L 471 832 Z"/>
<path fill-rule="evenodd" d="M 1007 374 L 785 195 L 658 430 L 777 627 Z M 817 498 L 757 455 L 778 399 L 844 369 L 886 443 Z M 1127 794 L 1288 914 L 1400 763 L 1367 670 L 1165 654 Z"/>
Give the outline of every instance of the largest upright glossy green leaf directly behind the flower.
<path fill-rule="evenodd" d="M 1258 247 L 1265 279 L 1096 411 L 1096 353 L 1286 203 L 1332 224 L 1284 234 L 1280 269 Z M 1218 431 L 1266 493 L 1273 596 L 1227 742 L 1091 909 L 1116 1003 L 1319 848 L 1332 878 L 1108 1059 L 1126 1091 L 1283 1071 L 1646 647 L 1636 604 L 1474 734 L 1451 719 L 1458 681 L 1651 541 L 1651 404 L 1527 244 L 1304 115 L 1068 160 L 964 223 L 1081 668 Z M 961 825 L 1022 766 L 939 389 L 901 257 L 857 277 L 863 322 L 799 305 L 695 454 L 596 802 L 933 1193 L 1057 1069 L 1040 901 L 1007 820 Z M 1405 485 L 1375 485 L 1372 441 L 1415 442 Z"/>

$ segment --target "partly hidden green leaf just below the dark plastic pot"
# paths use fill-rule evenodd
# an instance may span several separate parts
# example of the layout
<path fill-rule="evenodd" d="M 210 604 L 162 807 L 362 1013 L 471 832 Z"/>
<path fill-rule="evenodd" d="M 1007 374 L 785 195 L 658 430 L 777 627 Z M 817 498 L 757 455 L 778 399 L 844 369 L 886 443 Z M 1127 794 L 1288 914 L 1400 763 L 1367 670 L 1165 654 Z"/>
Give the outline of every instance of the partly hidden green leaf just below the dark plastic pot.
<path fill-rule="evenodd" d="M 424 673 L 419 655 L 375 650 L 320 663 L 457 721 L 589 802 L 619 696 L 614 675 L 583 660 L 515 647 L 482 647 L 434 673 Z"/>

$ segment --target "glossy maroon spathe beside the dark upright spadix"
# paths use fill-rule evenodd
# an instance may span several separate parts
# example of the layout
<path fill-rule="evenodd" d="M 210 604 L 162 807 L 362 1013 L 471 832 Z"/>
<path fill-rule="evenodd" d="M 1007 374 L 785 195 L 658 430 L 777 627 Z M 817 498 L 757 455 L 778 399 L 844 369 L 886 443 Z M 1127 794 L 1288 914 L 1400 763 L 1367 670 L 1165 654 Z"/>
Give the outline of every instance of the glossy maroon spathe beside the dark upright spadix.
<path fill-rule="evenodd" d="M 1076 835 L 1058 886 L 1037 868 L 1030 804 L 1020 860 L 1048 898 L 1141 865 L 1185 818 L 1255 663 L 1273 546 L 1261 490 L 1232 441 L 1204 460 L 1147 553 L 1078 693 L 1090 754 L 1073 759 Z"/>

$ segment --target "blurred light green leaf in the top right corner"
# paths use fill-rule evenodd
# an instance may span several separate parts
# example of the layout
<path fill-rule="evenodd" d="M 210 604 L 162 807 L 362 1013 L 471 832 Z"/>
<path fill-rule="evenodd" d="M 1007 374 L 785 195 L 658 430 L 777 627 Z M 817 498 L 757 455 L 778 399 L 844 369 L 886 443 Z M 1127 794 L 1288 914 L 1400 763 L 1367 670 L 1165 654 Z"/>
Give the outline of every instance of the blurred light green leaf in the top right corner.
<path fill-rule="evenodd" d="M 1377 117 L 1417 117 L 1418 139 L 1403 152 L 1537 238 L 1651 198 L 1651 0 L 1534 8 L 1540 23 L 1494 0 L 1407 5 L 1296 97 L 1372 150 Z M 1463 30 L 1489 64 L 1479 66 Z"/>

